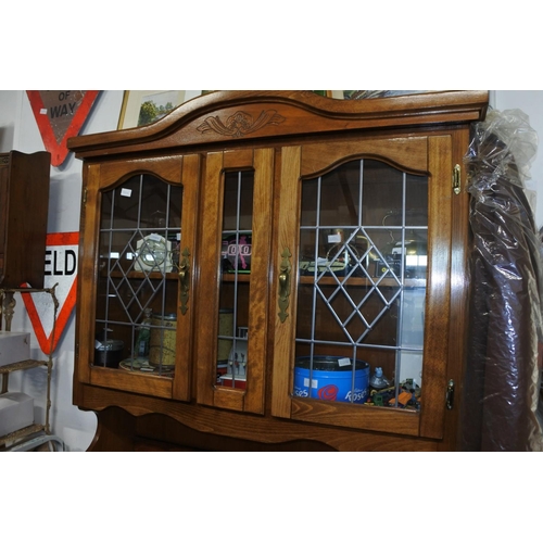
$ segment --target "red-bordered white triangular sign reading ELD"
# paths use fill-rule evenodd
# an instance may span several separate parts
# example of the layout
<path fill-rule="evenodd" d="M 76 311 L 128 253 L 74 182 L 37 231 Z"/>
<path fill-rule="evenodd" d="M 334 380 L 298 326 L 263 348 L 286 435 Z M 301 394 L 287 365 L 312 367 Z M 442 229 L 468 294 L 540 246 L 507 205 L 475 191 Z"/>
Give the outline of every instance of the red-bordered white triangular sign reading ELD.
<path fill-rule="evenodd" d="M 54 289 L 59 301 L 54 340 L 52 341 L 54 307 L 47 292 L 24 292 L 23 302 L 30 318 L 39 346 L 45 354 L 54 352 L 70 315 L 75 307 L 77 295 L 77 251 L 79 232 L 47 235 L 46 276 L 43 287 Z M 27 283 L 22 287 L 28 287 Z"/>

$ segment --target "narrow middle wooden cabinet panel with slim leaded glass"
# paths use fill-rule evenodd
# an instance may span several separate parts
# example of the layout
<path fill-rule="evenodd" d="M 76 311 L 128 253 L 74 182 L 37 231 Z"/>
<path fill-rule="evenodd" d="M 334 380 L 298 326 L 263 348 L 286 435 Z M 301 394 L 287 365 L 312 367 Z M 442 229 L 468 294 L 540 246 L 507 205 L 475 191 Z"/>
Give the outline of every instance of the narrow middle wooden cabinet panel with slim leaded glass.
<path fill-rule="evenodd" d="M 198 402 L 263 413 L 274 150 L 206 156 Z"/>

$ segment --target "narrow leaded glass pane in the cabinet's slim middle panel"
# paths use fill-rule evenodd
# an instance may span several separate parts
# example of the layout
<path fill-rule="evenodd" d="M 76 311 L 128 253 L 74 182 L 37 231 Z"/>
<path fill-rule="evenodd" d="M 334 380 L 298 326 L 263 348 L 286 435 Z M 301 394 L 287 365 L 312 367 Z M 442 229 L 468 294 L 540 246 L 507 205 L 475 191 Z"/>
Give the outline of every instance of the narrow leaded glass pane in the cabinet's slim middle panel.
<path fill-rule="evenodd" d="M 253 172 L 225 174 L 217 384 L 243 390 L 249 374 L 253 187 Z"/>

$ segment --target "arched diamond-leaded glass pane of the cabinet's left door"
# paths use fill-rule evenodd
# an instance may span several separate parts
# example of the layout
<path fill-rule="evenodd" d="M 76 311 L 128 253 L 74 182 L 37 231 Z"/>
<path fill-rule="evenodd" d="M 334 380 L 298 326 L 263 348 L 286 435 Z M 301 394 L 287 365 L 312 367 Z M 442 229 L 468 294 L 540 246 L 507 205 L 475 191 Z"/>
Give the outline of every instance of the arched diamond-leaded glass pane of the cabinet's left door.
<path fill-rule="evenodd" d="M 94 365 L 173 376 L 181 207 L 150 175 L 102 193 Z"/>

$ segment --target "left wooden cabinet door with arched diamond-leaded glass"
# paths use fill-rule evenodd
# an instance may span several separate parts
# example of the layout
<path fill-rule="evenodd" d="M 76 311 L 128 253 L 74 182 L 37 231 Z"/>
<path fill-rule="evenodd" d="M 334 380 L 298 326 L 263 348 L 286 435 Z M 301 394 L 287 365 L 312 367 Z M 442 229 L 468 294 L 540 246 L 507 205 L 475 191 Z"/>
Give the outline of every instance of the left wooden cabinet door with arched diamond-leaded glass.
<path fill-rule="evenodd" d="M 186 400 L 190 395 L 193 247 L 199 157 L 102 165 L 88 379 Z M 89 226 L 90 228 L 90 226 Z M 88 269 L 84 264 L 83 274 Z M 92 320 L 90 320 L 92 318 Z"/>

